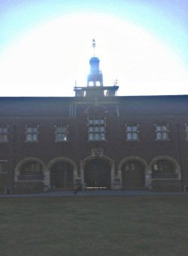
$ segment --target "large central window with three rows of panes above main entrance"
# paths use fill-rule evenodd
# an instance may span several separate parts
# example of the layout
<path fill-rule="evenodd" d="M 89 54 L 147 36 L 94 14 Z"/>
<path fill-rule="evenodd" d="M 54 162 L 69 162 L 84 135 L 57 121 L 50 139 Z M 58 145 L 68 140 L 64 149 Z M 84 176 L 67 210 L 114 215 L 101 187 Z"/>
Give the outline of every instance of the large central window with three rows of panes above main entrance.
<path fill-rule="evenodd" d="M 88 139 L 101 141 L 106 139 L 104 117 L 91 117 L 88 119 Z"/>

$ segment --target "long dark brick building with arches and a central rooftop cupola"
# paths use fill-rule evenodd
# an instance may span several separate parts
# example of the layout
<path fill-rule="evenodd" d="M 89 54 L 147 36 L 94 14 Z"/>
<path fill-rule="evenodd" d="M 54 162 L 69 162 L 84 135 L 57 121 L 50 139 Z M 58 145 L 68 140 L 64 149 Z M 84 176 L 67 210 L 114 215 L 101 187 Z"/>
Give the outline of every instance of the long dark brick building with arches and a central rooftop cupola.
<path fill-rule="evenodd" d="M 188 95 L 118 97 L 89 64 L 75 97 L 0 97 L 1 192 L 186 190 Z"/>

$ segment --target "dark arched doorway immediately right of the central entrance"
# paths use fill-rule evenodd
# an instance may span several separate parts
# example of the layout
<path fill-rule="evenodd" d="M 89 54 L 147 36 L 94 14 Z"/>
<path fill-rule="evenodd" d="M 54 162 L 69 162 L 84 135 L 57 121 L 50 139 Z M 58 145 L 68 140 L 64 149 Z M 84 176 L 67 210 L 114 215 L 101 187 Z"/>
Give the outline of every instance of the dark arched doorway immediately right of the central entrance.
<path fill-rule="evenodd" d="M 135 160 L 127 161 L 122 167 L 123 189 L 143 189 L 145 184 L 144 166 Z"/>

